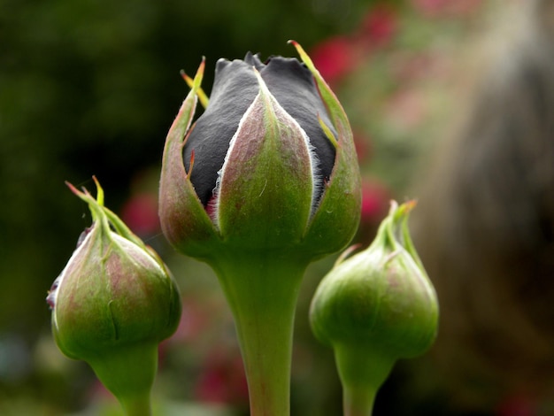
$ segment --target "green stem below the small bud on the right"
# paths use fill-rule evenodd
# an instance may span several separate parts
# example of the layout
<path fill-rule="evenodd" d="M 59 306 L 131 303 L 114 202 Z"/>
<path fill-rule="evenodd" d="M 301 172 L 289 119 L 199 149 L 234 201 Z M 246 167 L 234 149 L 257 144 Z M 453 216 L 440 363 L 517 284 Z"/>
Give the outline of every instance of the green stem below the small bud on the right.
<path fill-rule="evenodd" d="M 334 345 L 344 416 L 371 416 L 377 391 L 395 361 L 359 345 Z"/>

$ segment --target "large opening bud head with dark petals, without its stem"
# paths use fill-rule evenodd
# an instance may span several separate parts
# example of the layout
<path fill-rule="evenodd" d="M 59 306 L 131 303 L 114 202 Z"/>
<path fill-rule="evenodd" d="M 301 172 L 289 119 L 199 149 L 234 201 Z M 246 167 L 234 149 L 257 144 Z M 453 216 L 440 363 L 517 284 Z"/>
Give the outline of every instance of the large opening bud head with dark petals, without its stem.
<path fill-rule="evenodd" d="M 359 173 L 341 105 L 296 43 L 296 58 L 220 59 L 207 108 L 190 127 L 204 71 L 165 143 L 160 220 L 182 252 L 221 245 L 340 250 L 358 227 Z"/>

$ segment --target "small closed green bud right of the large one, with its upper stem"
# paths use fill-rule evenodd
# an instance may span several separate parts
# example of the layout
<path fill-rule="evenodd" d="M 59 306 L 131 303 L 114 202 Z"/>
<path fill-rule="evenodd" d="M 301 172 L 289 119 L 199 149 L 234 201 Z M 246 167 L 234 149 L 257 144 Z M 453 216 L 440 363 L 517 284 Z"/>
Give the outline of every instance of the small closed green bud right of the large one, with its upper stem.
<path fill-rule="evenodd" d="M 339 261 L 312 299 L 312 331 L 334 348 L 345 394 L 360 386 L 374 393 L 397 359 L 435 340 L 435 289 L 407 227 L 413 204 L 393 202 L 373 243 Z"/>

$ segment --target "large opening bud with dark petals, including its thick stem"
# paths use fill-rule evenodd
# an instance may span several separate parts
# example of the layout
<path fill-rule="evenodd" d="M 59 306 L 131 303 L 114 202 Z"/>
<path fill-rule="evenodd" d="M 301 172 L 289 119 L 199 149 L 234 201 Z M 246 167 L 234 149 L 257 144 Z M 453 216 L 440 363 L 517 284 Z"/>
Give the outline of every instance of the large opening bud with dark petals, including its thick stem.
<path fill-rule="evenodd" d="M 293 44 L 304 64 L 220 59 L 191 127 L 196 101 L 207 101 L 202 62 L 167 135 L 160 179 L 165 237 L 212 266 L 235 317 L 253 415 L 289 414 L 304 270 L 350 242 L 361 206 L 348 119 Z"/>

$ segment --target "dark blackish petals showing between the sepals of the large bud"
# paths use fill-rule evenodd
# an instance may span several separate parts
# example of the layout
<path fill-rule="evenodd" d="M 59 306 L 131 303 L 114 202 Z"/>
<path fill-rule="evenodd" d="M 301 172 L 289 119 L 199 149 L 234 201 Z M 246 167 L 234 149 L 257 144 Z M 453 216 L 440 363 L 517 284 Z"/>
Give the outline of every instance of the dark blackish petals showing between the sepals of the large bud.
<path fill-rule="evenodd" d="M 335 133 L 321 101 L 312 73 L 296 58 L 269 58 L 262 63 L 250 52 L 244 60 L 219 59 L 210 104 L 196 121 L 183 150 L 185 167 L 189 170 L 191 153 L 195 164 L 190 180 L 196 194 L 205 205 L 212 198 L 218 172 L 223 166 L 229 142 L 239 122 L 258 94 L 258 81 L 252 66 L 258 69 L 267 88 L 279 104 L 304 129 L 319 159 L 315 174 L 328 180 L 335 163 L 335 148 L 327 139 L 318 116 Z"/>

